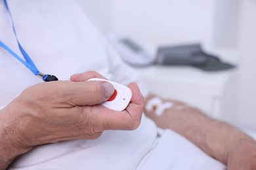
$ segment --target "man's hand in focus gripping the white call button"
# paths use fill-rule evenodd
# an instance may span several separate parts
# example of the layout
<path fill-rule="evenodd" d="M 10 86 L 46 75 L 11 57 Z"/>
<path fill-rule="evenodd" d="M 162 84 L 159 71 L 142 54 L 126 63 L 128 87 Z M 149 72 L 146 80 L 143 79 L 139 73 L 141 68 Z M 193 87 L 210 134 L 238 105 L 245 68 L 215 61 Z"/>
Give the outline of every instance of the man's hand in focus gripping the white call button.
<path fill-rule="evenodd" d="M 1 110 L 0 169 L 39 144 L 96 139 L 108 129 L 136 129 L 144 102 L 137 84 L 129 84 L 131 102 L 117 112 L 99 105 L 114 93 L 112 84 L 86 81 L 93 77 L 104 78 L 91 71 L 74 75 L 71 81 L 37 84 Z"/>

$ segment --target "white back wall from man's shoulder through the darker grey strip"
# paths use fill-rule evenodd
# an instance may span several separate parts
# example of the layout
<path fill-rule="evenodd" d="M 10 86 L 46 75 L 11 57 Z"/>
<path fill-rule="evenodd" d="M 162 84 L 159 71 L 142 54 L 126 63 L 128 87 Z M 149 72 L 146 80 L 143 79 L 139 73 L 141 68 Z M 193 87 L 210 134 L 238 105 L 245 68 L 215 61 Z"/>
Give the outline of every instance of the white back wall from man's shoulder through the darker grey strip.
<path fill-rule="evenodd" d="M 125 33 L 155 54 L 160 45 L 236 48 L 241 0 L 76 0 L 103 33 Z"/>

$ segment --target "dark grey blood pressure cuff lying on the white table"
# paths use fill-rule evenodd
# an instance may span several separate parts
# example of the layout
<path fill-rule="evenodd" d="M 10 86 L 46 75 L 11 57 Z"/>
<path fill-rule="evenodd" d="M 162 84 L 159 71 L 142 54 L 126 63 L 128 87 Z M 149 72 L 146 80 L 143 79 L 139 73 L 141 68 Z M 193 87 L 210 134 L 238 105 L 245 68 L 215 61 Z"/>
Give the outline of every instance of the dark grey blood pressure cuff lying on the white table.
<path fill-rule="evenodd" d="M 167 46 L 158 49 L 156 65 L 191 65 L 205 71 L 232 69 L 235 66 L 224 63 L 217 56 L 203 52 L 200 44 Z"/>

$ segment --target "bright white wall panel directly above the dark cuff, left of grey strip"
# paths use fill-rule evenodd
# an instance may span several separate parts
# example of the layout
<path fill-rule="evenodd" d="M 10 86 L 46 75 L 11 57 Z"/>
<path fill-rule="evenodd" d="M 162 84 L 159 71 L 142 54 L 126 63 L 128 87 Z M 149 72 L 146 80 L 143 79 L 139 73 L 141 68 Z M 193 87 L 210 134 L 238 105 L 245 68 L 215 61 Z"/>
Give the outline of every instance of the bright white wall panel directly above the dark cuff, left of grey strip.
<path fill-rule="evenodd" d="M 208 43 L 213 35 L 213 3 L 214 0 L 112 0 L 113 28 L 148 48 Z"/>

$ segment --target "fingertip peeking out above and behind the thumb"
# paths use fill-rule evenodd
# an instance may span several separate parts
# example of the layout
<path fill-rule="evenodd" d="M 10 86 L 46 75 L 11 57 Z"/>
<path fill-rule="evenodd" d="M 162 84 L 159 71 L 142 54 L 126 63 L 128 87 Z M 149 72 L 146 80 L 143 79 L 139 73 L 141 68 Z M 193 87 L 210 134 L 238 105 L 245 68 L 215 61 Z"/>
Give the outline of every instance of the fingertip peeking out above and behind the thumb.
<path fill-rule="evenodd" d="M 84 82 L 84 81 L 88 80 L 89 78 L 106 79 L 104 76 L 100 75 L 96 71 L 87 71 L 85 73 L 78 73 L 78 74 L 72 75 L 70 77 L 70 80 L 73 82 Z"/>

